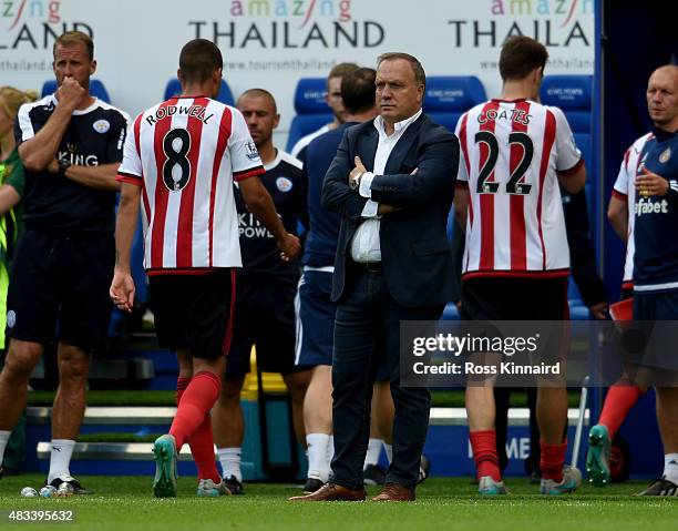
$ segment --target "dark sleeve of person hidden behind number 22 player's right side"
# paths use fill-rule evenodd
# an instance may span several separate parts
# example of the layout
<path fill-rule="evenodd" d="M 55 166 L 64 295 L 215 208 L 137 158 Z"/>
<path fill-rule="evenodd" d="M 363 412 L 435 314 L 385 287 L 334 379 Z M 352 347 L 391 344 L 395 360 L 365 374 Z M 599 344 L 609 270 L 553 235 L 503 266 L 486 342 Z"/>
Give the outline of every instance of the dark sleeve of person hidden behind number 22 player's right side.
<path fill-rule="evenodd" d="M 571 269 L 587 307 L 607 302 L 607 292 L 596 269 L 596 253 L 588 235 L 588 210 L 584 191 L 569 194 L 561 186 L 569 246 Z"/>

